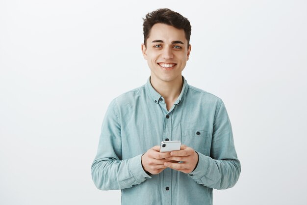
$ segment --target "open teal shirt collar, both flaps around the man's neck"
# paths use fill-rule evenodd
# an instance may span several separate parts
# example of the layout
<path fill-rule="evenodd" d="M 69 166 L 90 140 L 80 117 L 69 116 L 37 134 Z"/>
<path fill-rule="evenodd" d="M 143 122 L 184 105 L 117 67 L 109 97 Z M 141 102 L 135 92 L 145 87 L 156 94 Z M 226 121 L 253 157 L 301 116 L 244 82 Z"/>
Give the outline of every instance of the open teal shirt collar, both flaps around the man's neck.
<path fill-rule="evenodd" d="M 188 90 L 188 84 L 187 81 L 185 80 L 185 78 L 182 76 L 182 80 L 183 80 L 183 86 L 181 89 L 181 92 L 179 94 L 179 97 L 177 98 L 177 100 L 175 101 L 175 105 L 180 104 Z M 145 84 L 145 88 L 150 96 L 150 98 L 153 100 L 153 102 L 155 104 L 157 104 L 159 101 L 164 101 L 163 97 L 153 88 L 151 82 L 150 82 L 150 77 L 147 80 L 147 83 Z"/>

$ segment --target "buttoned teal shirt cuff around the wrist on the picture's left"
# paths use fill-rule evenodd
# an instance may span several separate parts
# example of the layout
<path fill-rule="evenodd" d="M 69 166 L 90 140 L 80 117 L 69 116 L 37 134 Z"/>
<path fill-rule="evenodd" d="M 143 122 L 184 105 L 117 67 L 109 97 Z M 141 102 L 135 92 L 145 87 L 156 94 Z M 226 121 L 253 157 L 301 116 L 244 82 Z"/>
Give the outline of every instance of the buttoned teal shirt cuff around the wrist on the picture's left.
<path fill-rule="evenodd" d="M 141 157 L 143 154 L 137 155 L 130 159 L 129 170 L 137 182 L 141 183 L 148 178 L 152 178 L 144 171 L 142 167 Z"/>

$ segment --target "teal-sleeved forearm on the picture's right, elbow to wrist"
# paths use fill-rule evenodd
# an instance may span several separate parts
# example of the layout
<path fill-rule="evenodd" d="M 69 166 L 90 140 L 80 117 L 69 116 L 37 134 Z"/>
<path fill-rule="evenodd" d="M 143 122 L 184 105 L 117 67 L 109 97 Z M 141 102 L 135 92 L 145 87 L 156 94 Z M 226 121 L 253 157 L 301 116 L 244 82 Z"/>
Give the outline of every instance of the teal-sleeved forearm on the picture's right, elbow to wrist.
<path fill-rule="evenodd" d="M 197 168 L 189 174 L 197 183 L 214 189 L 228 189 L 237 182 L 241 166 L 238 159 L 216 160 L 199 154 Z"/>

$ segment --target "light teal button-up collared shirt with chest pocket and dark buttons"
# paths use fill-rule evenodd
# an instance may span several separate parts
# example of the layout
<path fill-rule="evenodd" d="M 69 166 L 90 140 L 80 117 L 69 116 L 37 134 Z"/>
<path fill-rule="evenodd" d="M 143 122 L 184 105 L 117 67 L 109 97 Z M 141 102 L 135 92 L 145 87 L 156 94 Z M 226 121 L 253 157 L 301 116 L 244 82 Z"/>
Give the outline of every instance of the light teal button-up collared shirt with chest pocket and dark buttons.
<path fill-rule="evenodd" d="M 102 190 L 122 190 L 122 205 L 212 205 L 212 189 L 232 187 L 241 167 L 223 101 L 183 79 L 168 111 L 150 79 L 115 98 L 102 123 L 92 178 Z M 189 173 L 166 168 L 147 175 L 141 156 L 161 141 L 179 140 L 199 155 Z"/>

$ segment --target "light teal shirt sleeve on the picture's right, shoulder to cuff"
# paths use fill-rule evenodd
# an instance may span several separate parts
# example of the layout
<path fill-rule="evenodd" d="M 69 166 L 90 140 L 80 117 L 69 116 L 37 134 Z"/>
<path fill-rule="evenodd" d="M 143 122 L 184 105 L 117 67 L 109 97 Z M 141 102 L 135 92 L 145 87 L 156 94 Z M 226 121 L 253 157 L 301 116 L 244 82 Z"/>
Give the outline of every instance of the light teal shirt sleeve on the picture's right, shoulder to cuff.
<path fill-rule="evenodd" d="M 188 174 L 191 178 L 215 189 L 227 189 L 235 185 L 241 165 L 233 143 L 230 119 L 222 100 L 214 117 L 210 156 L 198 154 L 198 165 Z"/>

